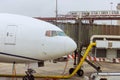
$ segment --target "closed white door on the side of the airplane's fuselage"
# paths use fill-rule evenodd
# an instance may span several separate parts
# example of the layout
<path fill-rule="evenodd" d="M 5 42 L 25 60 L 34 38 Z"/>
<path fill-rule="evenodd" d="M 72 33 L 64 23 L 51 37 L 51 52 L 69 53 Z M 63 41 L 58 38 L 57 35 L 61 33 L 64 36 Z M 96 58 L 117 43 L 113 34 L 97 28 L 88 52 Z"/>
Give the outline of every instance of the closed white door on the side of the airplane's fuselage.
<path fill-rule="evenodd" d="M 15 45 L 16 44 L 16 25 L 8 25 L 5 32 L 5 45 Z"/>

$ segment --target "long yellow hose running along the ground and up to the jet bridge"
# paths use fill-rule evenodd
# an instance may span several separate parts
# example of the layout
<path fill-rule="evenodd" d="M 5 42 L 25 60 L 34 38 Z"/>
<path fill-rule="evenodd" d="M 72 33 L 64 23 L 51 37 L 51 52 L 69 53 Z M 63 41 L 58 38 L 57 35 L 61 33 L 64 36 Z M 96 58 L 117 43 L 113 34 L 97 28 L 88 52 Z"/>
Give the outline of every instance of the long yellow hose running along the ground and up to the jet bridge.
<path fill-rule="evenodd" d="M 80 69 L 80 67 L 82 66 L 83 62 L 85 61 L 88 53 L 90 52 L 90 50 L 92 49 L 93 46 L 96 46 L 96 43 L 91 43 L 87 50 L 85 51 L 83 58 L 81 59 L 80 63 L 77 65 L 77 67 L 75 68 L 75 70 L 73 71 L 72 74 L 64 76 L 64 75 L 53 75 L 53 76 L 42 76 L 42 75 L 34 75 L 35 78 L 56 78 L 56 79 L 68 79 L 71 78 L 72 76 L 74 76 L 77 71 Z M 24 77 L 25 75 L 10 75 L 10 74 L 0 74 L 0 77 Z"/>

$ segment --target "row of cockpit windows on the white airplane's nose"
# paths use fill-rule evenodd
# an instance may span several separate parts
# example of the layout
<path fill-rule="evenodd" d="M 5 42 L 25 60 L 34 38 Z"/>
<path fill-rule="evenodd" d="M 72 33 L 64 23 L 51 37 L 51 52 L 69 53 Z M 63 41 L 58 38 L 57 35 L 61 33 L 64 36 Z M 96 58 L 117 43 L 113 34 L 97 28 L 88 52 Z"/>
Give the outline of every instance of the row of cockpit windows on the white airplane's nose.
<path fill-rule="evenodd" d="M 46 31 L 45 35 L 48 36 L 48 37 L 66 36 L 63 31 L 54 31 L 54 30 L 48 30 L 48 31 Z"/>

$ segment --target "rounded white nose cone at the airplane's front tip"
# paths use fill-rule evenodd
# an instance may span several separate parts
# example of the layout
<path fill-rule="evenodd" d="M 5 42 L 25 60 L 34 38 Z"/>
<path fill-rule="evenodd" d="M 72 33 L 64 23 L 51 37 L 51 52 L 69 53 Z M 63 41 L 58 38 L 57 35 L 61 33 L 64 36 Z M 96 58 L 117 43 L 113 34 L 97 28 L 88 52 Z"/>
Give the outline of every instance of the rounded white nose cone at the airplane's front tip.
<path fill-rule="evenodd" d="M 73 51 L 75 51 L 76 48 L 77 44 L 75 43 L 75 41 L 68 37 L 67 40 L 65 41 L 65 53 L 70 54 Z"/>

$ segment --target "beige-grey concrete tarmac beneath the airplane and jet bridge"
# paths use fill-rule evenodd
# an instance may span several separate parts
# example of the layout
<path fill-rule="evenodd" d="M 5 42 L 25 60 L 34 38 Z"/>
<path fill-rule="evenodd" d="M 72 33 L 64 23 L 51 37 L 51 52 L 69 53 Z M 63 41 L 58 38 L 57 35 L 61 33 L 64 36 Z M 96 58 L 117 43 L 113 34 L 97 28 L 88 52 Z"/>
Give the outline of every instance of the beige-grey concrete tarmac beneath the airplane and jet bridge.
<path fill-rule="evenodd" d="M 93 62 L 101 67 L 103 72 L 120 72 L 119 63 L 108 62 Z M 12 74 L 13 64 L 0 63 L 0 74 Z M 69 69 L 74 67 L 73 60 L 68 62 L 46 61 L 44 67 L 35 68 L 35 74 L 37 75 L 69 75 Z M 35 80 L 90 80 L 90 75 L 97 72 L 93 67 L 84 62 L 82 69 L 84 70 L 84 76 L 79 77 L 77 74 L 70 79 L 35 79 Z M 26 67 L 24 64 L 16 64 L 16 74 L 25 74 Z M 88 79 L 89 78 L 89 79 Z M 22 80 L 0 77 L 0 80 Z"/>

